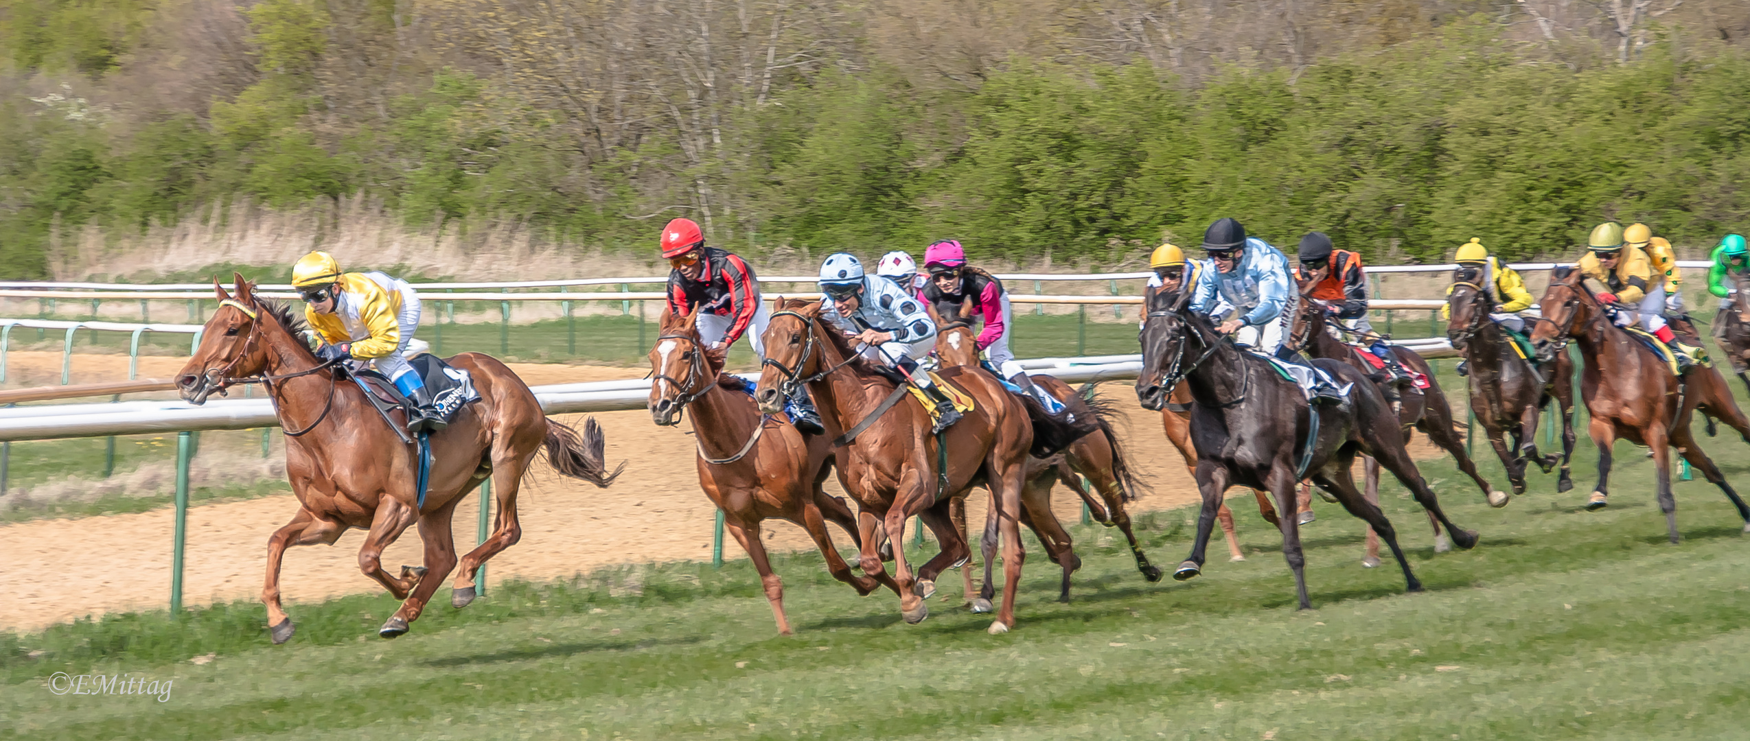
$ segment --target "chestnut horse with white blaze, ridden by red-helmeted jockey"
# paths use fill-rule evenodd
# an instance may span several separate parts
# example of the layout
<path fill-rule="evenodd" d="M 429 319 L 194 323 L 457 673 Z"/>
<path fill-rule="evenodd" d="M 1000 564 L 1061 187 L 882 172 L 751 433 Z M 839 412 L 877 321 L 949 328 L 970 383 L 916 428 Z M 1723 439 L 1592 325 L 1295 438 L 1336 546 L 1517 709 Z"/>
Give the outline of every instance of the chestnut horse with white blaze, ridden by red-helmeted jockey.
<path fill-rule="evenodd" d="M 760 414 L 752 395 L 740 390 L 747 381 L 719 376 L 723 369 L 712 365 L 700 346 L 695 322 L 698 313 L 662 313 L 662 334 L 649 353 L 651 418 L 656 425 L 668 426 L 679 425 L 686 411 L 693 412 L 698 486 L 723 510 L 723 526 L 752 559 L 766 601 L 772 603 L 777 631 L 788 636 L 791 629 L 784 617 L 784 582 L 772 573 L 766 559 L 760 540 L 761 521 L 788 519 L 807 530 L 821 556 L 826 556 L 826 570 L 833 578 L 856 587 L 858 594 L 868 594 L 880 584 L 852 575 L 826 531 L 826 519 L 831 519 L 850 533 L 850 540 L 858 540 L 856 516 L 844 500 L 821 489 L 821 482 L 831 475 L 830 440 L 803 435 L 786 419 Z M 732 384 L 735 390 L 726 388 Z"/>

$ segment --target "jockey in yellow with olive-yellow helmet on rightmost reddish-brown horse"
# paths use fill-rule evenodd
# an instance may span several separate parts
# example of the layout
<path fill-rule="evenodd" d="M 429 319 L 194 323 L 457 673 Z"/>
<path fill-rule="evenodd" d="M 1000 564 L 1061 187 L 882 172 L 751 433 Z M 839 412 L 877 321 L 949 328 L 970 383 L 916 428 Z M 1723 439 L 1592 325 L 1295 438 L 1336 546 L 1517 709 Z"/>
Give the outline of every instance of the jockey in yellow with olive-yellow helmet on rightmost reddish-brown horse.
<path fill-rule="evenodd" d="M 1652 278 L 1652 260 L 1638 246 L 1624 245 L 1622 225 L 1605 222 L 1592 227 L 1586 239 L 1587 253 L 1580 255 L 1580 273 L 1605 285 L 1598 302 L 1617 327 L 1628 327 L 1640 318 L 1642 329 L 1659 337 L 1676 355 L 1678 372 L 1696 364 L 1701 348 L 1680 343 L 1664 323 L 1664 281 Z M 1636 306 L 1634 311 L 1619 304 Z"/>

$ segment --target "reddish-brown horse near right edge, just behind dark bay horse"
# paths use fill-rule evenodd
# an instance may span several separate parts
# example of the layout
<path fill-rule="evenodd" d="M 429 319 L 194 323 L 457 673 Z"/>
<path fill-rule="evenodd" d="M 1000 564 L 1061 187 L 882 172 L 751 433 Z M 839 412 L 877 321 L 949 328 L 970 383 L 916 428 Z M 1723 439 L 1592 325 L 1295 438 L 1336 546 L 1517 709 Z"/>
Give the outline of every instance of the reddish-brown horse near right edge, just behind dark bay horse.
<path fill-rule="evenodd" d="M 1685 391 L 1684 379 L 1673 376 L 1662 358 L 1640 348 L 1638 339 L 1610 322 L 1578 269 L 1556 267 L 1540 304 L 1549 322 L 1538 323 L 1531 332 L 1538 357 L 1550 358 L 1564 351 L 1572 339 L 1586 360 L 1580 370 L 1580 397 L 1586 398 L 1586 409 L 1592 416 L 1587 432 L 1598 446 L 1598 488 L 1587 509 L 1605 505 L 1610 449 L 1617 437 L 1622 437 L 1652 447 L 1652 460 L 1659 468 L 1656 495 L 1673 544 L 1676 542 L 1676 500 L 1671 496 L 1673 446 L 1689 465 L 1726 491 L 1746 523 L 1745 531 L 1750 531 L 1750 507 L 1726 482 L 1720 468 L 1701 451 L 1689 430 L 1699 398 Z"/>

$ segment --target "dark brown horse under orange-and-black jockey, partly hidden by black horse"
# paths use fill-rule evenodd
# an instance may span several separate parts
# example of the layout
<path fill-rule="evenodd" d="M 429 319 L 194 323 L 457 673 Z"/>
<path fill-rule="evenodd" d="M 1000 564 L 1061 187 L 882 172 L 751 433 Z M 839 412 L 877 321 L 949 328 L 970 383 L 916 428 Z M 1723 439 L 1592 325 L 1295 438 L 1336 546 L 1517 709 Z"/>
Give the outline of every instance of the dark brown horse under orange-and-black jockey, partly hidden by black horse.
<path fill-rule="evenodd" d="M 1362 360 L 1358 353 L 1365 350 L 1346 344 L 1332 334 L 1330 325 L 1330 304 L 1314 299 L 1311 294 L 1311 283 L 1302 283 L 1300 287 L 1300 309 L 1295 313 L 1293 323 L 1288 329 L 1288 348 L 1306 353 L 1312 358 L 1340 360 L 1356 370 L 1367 374 L 1368 377 L 1381 377 L 1384 370 L 1376 370 L 1367 360 Z M 1489 507 L 1507 507 L 1507 493 L 1496 491 L 1489 486 L 1488 479 L 1477 472 L 1477 463 L 1470 460 L 1465 453 L 1465 440 L 1458 435 L 1452 419 L 1452 405 L 1447 404 L 1446 393 L 1440 391 L 1440 383 L 1433 377 L 1433 369 L 1428 367 L 1428 360 L 1409 348 L 1391 348 L 1398 364 L 1405 369 L 1423 374 L 1428 379 L 1428 388 L 1421 390 L 1416 384 L 1405 384 L 1400 393 L 1398 425 L 1404 430 L 1404 442 L 1409 444 L 1410 430 L 1421 430 L 1433 440 L 1435 446 L 1444 449 L 1452 460 L 1458 461 L 1458 468 L 1470 475 L 1470 481 L 1477 482 L 1482 489 L 1482 496 L 1489 502 Z M 1379 381 L 1388 383 L 1384 377 Z M 1384 391 L 1384 388 L 1381 388 Z M 1372 458 L 1362 461 L 1362 477 L 1365 486 L 1362 493 L 1367 495 L 1367 502 L 1379 505 L 1379 463 Z M 1522 489 L 1522 488 L 1521 488 Z M 1433 526 L 1435 552 L 1449 551 L 1451 545 L 1446 535 L 1440 533 L 1440 521 L 1428 514 L 1428 524 Z M 1379 537 L 1372 531 L 1367 533 L 1367 556 L 1362 559 L 1367 566 L 1379 564 Z"/>

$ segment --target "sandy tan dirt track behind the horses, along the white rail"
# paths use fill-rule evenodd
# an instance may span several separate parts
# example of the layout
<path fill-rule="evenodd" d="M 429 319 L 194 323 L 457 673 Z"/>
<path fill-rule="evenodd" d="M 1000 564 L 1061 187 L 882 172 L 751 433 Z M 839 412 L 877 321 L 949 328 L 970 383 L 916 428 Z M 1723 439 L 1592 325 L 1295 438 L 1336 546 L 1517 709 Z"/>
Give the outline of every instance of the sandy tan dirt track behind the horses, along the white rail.
<path fill-rule="evenodd" d="M 10 353 L 14 374 L 51 374 L 60 381 L 60 353 Z M 126 357 L 75 355 L 75 383 L 126 376 Z M 168 377 L 182 358 L 140 358 L 142 377 Z M 28 370 L 26 370 L 28 369 Z M 637 376 L 635 369 L 588 365 L 513 365 L 530 384 L 602 381 Z M 23 372 L 21 372 L 23 370 Z M 9 377 L 12 381 L 12 377 Z M 10 386 L 12 383 L 9 383 Z M 1153 491 L 1130 512 L 1180 507 L 1195 500 L 1195 489 L 1176 449 L 1160 432 L 1158 416 L 1136 407 L 1127 384 L 1106 393 L 1127 409 L 1118 430 L 1129 454 Z M 693 437 L 682 428 L 658 428 L 642 411 L 597 414 L 607 435 L 611 463 L 628 461 L 609 489 L 560 479 L 546 465 L 522 489 L 518 510 L 523 538 L 499 554 L 488 570 L 488 587 L 506 578 L 548 580 L 600 566 L 710 557 L 712 505 L 700 493 L 693 468 Z M 578 416 L 564 418 L 581 423 Z M 1426 444 L 1416 451 L 1430 453 Z M 838 495 L 836 481 L 828 491 Z M 1239 489 L 1234 491 L 1239 495 Z M 970 519 L 984 523 L 984 493 L 970 500 Z M 1256 517 L 1248 502 L 1234 502 L 1242 517 Z M 478 496 L 457 510 L 457 547 L 474 545 Z M 1066 523 L 1080 517 L 1080 500 L 1057 488 L 1054 509 Z M 292 517 L 290 495 L 247 502 L 214 503 L 189 510 L 184 603 L 203 605 L 254 599 L 261 592 L 266 540 Z M 835 544 L 849 552 L 850 538 L 830 528 Z M 173 510 L 108 517 L 49 519 L 0 526 L 7 568 L 0 570 L 0 629 L 33 631 L 44 626 L 103 615 L 107 612 L 163 608 L 170 598 Z M 1116 530 L 1102 537 L 1122 537 Z M 812 549 L 802 528 L 774 521 L 765 533 L 775 551 Z M 332 547 L 294 547 L 285 552 L 282 589 L 289 601 L 317 601 L 340 594 L 380 591 L 359 573 L 357 551 L 364 531 L 354 530 Z M 1171 561 L 1178 554 L 1160 554 Z M 730 540 L 724 557 L 746 557 Z M 420 538 L 408 530 L 383 556 L 383 564 L 420 563 Z M 1050 566 L 1038 559 L 1038 564 Z M 1041 566 L 1041 568 L 1045 568 Z M 824 566 L 822 566 L 824 568 Z M 952 580 L 954 577 L 945 577 Z M 438 603 L 448 589 L 439 591 Z M 296 615 L 296 608 L 292 608 Z"/>

